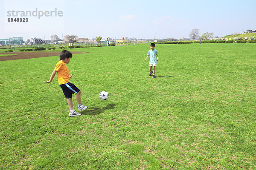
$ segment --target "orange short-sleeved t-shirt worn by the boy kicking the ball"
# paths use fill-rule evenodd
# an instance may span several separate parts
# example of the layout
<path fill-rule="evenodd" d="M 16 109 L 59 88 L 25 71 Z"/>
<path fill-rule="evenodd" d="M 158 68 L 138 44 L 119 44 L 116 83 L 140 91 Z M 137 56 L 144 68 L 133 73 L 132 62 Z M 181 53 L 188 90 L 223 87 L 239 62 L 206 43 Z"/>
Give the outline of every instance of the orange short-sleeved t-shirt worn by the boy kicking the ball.
<path fill-rule="evenodd" d="M 70 82 L 69 70 L 67 68 L 67 65 L 62 60 L 60 60 L 56 64 L 56 67 L 54 68 L 54 70 L 57 71 L 59 85 Z"/>

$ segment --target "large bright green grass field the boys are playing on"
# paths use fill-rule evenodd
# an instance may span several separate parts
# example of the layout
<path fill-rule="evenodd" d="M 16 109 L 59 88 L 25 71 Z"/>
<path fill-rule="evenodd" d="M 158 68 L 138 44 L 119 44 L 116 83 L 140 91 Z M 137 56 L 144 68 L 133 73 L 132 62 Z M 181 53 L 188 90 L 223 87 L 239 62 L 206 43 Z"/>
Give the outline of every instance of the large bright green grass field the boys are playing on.
<path fill-rule="evenodd" d="M 70 50 L 78 117 L 58 56 L 0 62 L 0 169 L 256 169 L 255 44 L 156 45 L 155 79 L 149 45 Z"/>

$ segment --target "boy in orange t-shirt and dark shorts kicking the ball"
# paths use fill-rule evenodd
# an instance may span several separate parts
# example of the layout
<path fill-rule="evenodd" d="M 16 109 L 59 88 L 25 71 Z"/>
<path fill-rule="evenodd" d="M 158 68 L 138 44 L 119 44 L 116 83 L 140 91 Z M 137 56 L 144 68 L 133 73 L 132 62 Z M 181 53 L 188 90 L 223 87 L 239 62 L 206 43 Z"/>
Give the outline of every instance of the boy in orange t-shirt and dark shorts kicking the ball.
<path fill-rule="evenodd" d="M 55 74 L 58 74 L 58 83 L 61 86 L 64 95 L 67 98 L 67 103 L 70 108 L 70 113 L 68 116 L 80 116 L 80 113 L 77 113 L 73 109 L 73 102 L 72 102 L 72 94 L 76 93 L 76 101 L 78 102 L 78 110 L 84 111 L 88 108 L 88 106 L 84 106 L 81 104 L 81 91 L 79 88 L 77 88 L 74 84 L 70 82 L 70 78 L 73 76 L 73 74 L 70 74 L 67 65 L 70 62 L 70 59 L 72 58 L 72 54 L 70 51 L 63 50 L 60 54 L 60 61 L 56 64 L 56 67 L 52 71 L 52 75 L 49 79 L 49 81 L 45 83 L 52 82 L 52 79 L 54 78 Z M 66 63 L 66 64 L 65 64 Z"/>

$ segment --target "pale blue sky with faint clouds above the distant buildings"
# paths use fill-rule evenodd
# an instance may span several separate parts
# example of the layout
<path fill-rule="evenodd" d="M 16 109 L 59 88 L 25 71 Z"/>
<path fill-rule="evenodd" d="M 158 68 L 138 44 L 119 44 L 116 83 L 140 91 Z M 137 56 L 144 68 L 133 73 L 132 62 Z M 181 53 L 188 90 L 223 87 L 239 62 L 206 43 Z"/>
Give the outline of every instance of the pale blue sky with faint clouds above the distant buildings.
<path fill-rule="evenodd" d="M 0 39 L 50 40 L 55 34 L 61 39 L 67 34 L 180 39 L 188 38 L 194 28 L 200 35 L 213 32 L 213 37 L 256 30 L 256 0 L 0 0 L 0 11 Z M 21 17 L 21 12 L 12 11 L 36 12 Z M 38 11 L 44 16 L 38 18 Z"/>

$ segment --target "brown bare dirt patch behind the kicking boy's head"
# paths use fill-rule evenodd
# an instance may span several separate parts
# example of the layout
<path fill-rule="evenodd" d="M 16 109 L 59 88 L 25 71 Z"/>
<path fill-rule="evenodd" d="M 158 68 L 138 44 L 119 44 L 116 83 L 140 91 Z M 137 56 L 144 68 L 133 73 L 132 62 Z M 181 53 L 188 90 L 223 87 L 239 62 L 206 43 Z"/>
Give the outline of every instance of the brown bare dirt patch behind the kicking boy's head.
<path fill-rule="evenodd" d="M 88 52 L 79 52 L 79 51 L 70 51 L 70 52 L 72 54 L 88 53 Z M 0 61 L 59 56 L 60 53 L 61 51 L 26 51 L 26 52 L 0 53 L 4 55 L 12 54 L 11 56 L 0 56 Z"/>

